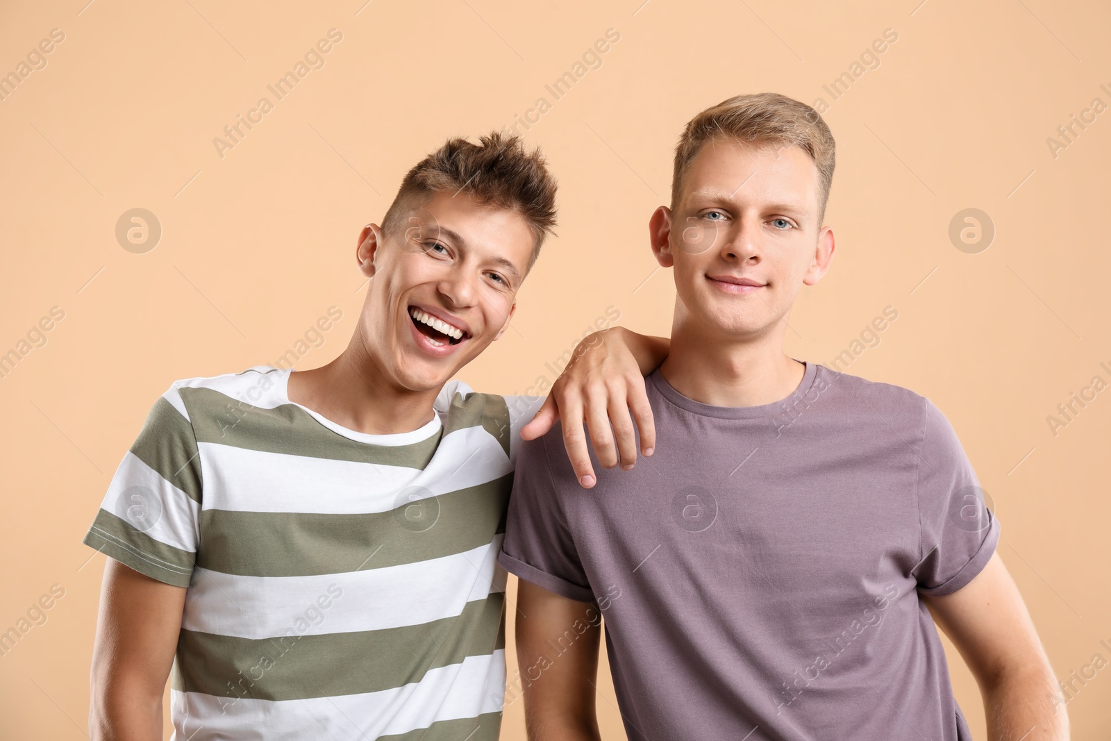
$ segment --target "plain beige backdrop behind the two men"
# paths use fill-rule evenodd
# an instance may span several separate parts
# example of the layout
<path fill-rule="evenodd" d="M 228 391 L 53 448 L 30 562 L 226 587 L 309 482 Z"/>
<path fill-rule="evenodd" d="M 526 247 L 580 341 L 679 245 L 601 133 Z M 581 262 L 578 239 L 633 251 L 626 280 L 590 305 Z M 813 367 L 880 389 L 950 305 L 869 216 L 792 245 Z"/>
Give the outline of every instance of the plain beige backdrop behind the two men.
<path fill-rule="evenodd" d="M 363 298 L 356 237 L 404 170 L 449 134 L 512 124 L 540 97 L 551 109 L 527 137 L 560 179 L 559 238 L 468 382 L 526 391 L 610 306 L 667 334 L 673 286 L 654 270 L 647 220 L 668 200 L 682 124 L 740 92 L 822 98 L 840 150 L 827 214 L 839 251 L 792 313 L 789 351 L 829 363 L 894 307 L 849 371 L 948 414 L 1058 677 L 1111 660 L 1111 391 L 1055 435 L 1047 422 L 1093 375 L 1111 381 L 1111 114 L 1055 157 L 1047 143 L 1093 98 L 1111 103 L 1105 4 L 86 2 L 0 6 L 0 73 L 64 33 L 0 101 L 0 353 L 30 350 L 0 379 L 0 631 L 64 590 L 0 657 L 0 737 L 86 732 L 104 557 L 80 540 L 158 394 L 272 361 L 337 306 L 344 318 L 298 367 L 331 359 Z M 324 67 L 276 102 L 267 86 L 332 28 L 342 41 Z M 544 86 L 610 28 L 620 41 L 601 67 L 554 100 Z M 884 29 L 898 41 L 853 70 Z M 823 84 L 852 71 L 834 100 Z M 221 158 L 213 138 L 263 96 L 273 110 Z M 117 241 L 132 208 L 161 224 L 152 251 Z M 974 254 L 949 238 L 967 208 L 995 229 Z M 53 307 L 64 319 L 44 347 L 19 346 Z M 947 650 L 983 739 L 975 685 Z M 623 738 L 608 675 L 599 687 L 604 735 Z M 1073 738 L 1109 738 L 1109 702 L 1103 669 L 1069 703 Z M 503 735 L 523 738 L 521 702 Z"/>

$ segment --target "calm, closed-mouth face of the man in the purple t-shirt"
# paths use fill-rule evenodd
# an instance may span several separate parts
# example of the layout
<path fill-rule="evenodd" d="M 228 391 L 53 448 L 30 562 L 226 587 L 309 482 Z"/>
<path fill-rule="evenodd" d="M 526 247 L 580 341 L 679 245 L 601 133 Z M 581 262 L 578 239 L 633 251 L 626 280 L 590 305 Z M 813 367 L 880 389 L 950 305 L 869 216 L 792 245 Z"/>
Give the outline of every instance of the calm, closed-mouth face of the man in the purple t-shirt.
<path fill-rule="evenodd" d="M 829 268 L 818 169 L 798 147 L 705 142 L 672 212 L 652 216 L 652 249 L 674 267 L 677 320 L 707 341 L 782 331 L 803 284 Z"/>

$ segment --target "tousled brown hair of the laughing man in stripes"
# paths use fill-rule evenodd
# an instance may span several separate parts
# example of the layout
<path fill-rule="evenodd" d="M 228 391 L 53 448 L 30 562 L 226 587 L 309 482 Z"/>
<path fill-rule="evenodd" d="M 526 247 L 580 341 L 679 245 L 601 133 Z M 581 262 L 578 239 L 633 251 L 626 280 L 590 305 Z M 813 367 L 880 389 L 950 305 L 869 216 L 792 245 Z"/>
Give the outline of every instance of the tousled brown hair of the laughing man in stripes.
<path fill-rule="evenodd" d="M 382 218 L 382 231 L 396 233 L 418 202 L 446 191 L 466 192 L 483 206 L 523 217 L 536 238 L 529 269 L 544 238 L 554 233 L 556 179 L 540 150 L 526 151 L 520 137 L 496 131 L 480 137 L 478 144 L 458 137 L 446 141 L 406 174 Z"/>

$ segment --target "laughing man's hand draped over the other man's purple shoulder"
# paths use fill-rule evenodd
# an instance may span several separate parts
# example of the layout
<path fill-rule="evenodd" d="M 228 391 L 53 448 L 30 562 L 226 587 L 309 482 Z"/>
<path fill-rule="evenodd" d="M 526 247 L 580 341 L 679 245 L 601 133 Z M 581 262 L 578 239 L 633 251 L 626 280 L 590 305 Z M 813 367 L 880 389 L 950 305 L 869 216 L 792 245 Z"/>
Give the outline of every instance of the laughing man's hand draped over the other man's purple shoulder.
<path fill-rule="evenodd" d="M 575 479 L 590 489 L 595 477 L 582 430 L 585 422 L 598 461 L 604 468 L 620 462 L 623 469 L 631 469 L 637 462 L 633 420 L 640 431 L 641 453 L 651 455 L 655 447 L 655 425 L 644 377 L 663 362 L 670 347 L 668 338 L 638 334 L 623 327 L 587 336 L 552 383 L 543 407 L 521 430 L 521 437 L 539 438 L 556 420 L 562 420 L 563 447 Z"/>

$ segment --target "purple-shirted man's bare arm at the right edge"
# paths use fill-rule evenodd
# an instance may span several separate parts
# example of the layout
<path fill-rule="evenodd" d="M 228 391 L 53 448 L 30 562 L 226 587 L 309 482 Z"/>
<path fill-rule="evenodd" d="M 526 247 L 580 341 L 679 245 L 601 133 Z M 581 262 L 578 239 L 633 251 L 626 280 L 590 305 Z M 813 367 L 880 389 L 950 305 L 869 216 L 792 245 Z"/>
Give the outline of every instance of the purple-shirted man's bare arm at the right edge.
<path fill-rule="evenodd" d="M 998 552 L 962 589 L 923 600 L 980 685 L 989 741 L 1068 740 L 1053 670 Z"/>

